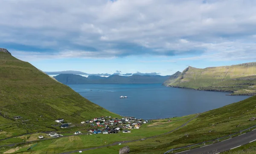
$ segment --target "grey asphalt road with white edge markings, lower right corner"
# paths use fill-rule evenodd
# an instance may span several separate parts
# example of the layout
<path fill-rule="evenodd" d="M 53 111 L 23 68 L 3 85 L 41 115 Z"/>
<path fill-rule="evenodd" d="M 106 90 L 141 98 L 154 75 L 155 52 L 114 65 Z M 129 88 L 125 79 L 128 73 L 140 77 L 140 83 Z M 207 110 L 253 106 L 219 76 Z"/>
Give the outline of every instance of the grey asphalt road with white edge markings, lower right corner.
<path fill-rule="evenodd" d="M 238 148 L 241 145 L 245 145 L 249 142 L 256 141 L 256 130 L 241 134 L 237 137 L 226 139 L 221 142 L 217 142 L 211 145 L 202 146 L 200 148 L 191 149 L 188 151 L 177 152 L 174 154 L 218 154 L 223 151 Z M 169 152 L 172 154 L 172 152 Z"/>

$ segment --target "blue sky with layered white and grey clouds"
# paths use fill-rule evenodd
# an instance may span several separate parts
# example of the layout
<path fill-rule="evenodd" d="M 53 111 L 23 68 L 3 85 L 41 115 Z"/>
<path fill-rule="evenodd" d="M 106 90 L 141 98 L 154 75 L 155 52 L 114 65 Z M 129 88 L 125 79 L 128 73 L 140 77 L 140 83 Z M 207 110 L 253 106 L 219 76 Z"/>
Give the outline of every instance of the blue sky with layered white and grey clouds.
<path fill-rule="evenodd" d="M 1 0 L 0 47 L 43 71 L 158 73 L 256 61 L 256 0 Z"/>

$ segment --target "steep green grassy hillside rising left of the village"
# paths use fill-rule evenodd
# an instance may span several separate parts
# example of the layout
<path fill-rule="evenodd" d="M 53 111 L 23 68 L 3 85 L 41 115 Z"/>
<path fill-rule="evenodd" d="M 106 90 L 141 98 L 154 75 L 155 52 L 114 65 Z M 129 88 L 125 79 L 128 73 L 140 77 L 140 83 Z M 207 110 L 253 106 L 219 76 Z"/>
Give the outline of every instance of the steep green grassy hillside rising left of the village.
<path fill-rule="evenodd" d="M 0 139 L 36 131 L 58 130 L 55 119 L 80 123 L 99 116 L 118 116 L 90 102 L 28 62 L 0 52 Z M 14 116 L 22 119 L 14 120 Z M 29 120 L 21 122 L 21 120 Z M 21 123 L 17 123 L 21 122 Z M 17 123 L 14 125 L 5 125 Z"/>

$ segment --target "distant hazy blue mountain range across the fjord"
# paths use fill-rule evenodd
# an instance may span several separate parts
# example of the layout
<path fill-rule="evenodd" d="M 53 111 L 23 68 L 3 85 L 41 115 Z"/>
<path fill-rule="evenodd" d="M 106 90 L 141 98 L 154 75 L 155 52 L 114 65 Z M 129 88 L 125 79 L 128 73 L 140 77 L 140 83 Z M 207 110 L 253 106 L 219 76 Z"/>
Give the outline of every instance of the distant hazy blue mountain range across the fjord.
<path fill-rule="evenodd" d="M 87 78 L 75 74 L 60 74 L 54 76 L 56 80 L 63 84 L 162 84 L 170 76 L 119 76 L 109 77 L 88 76 Z"/>

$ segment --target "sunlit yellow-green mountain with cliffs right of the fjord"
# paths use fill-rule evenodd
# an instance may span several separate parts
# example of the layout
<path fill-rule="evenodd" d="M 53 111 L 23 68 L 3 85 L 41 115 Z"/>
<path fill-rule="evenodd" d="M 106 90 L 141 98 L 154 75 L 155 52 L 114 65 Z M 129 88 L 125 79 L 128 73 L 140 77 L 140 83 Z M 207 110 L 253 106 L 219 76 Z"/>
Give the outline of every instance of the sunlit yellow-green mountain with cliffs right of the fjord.
<path fill-rule="evenodd" d="M 256 94 L 256 62 L 198 69 L 187 67 L 167 86 L 196 90 L 229 91 L 232 95 Z"/>

